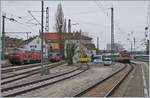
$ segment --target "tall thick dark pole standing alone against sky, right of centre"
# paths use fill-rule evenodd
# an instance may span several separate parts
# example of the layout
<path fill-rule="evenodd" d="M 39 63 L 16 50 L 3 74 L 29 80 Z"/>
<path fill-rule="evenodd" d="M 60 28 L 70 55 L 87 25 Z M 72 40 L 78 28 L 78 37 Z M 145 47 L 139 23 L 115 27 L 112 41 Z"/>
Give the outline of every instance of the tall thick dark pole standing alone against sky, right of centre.
<path fill-rule="evenodd" d="M 114 9 L 111 8 L 111 55 L 114 55 Z"/>

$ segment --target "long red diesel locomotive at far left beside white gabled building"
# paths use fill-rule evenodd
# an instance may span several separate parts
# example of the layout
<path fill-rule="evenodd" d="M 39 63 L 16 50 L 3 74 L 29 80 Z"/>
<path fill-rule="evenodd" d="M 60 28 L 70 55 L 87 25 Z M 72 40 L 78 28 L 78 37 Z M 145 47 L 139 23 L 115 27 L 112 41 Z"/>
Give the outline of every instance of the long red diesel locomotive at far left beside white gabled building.
<path fill-rule="evenodd" d="M 29 64 L 41 61 L 41 53 L 15 48 L 9 53 L 12 64 Z"/>

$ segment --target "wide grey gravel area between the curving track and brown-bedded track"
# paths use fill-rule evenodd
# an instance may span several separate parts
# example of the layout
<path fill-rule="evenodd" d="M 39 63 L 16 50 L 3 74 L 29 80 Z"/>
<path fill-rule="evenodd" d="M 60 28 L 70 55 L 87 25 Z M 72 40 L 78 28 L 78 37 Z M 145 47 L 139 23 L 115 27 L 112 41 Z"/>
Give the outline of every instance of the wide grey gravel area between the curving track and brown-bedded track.
<path fill-rule="evenodd" d="M 72 97 L 89 88 L 91 85 L 102 81 L 104 78 L 108 77 L 122 67 L 124 67 L 122 64 L 117 64 L 113 67 L 90 64 L 90 69 L 78 76 L 28 92 L 26 94 L 22 94 L 20 96 Z"/>

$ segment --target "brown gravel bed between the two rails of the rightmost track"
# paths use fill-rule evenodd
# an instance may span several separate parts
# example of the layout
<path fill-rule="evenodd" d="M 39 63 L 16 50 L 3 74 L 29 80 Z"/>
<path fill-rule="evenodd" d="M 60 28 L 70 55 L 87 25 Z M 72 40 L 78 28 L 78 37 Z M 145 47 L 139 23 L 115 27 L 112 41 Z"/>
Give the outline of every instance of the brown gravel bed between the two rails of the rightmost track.
<path fill-rule="evenodd" d="M 131 66 L 127 65 L 125 69 L 113 75 L 112 77 L 106 79 L 104 82 L 91 88 L 89 91 L 81 95 L 81 97 L 104 97 L 109 96 L 113 88 L 119 83 L 119 81 L 126 76 L 126 74 L 131 70 Z"/>

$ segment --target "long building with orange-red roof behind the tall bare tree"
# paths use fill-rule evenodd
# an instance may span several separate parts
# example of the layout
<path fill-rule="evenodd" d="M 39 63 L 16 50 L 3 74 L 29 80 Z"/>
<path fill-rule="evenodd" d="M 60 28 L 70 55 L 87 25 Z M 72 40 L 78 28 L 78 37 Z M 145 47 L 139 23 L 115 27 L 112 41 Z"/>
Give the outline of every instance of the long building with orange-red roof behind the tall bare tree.
<path fill-rule="evenodd" d="M 40 34 L 41 36 L 41 34 Z M 83 49 L 88 54 L 95 54 L 95 45 L 92 43 L 92 38 L 82 35 L 80 32 L 74 32 L 74 33 L 62 33 L 61 36 L 65 41 L 65 46 L 68 43 L 68 41 L 71 41 L 73 43 L 76 43 L 80 48 L 78 50 Z M 58 32 L 44 32 L 43 38 L 48 43 L 49 47 L 52 48 L 52 52 L 59 52 L 60 46 L 60 33 Z"/>

